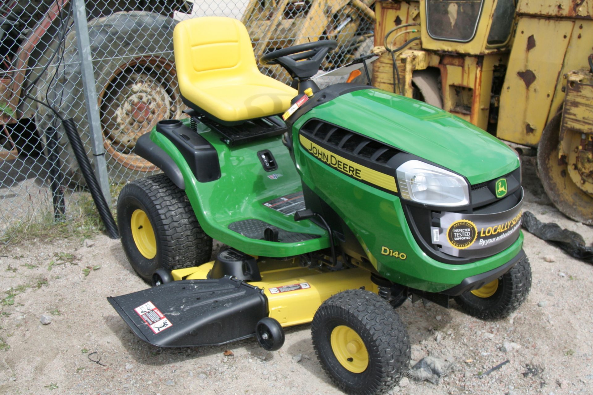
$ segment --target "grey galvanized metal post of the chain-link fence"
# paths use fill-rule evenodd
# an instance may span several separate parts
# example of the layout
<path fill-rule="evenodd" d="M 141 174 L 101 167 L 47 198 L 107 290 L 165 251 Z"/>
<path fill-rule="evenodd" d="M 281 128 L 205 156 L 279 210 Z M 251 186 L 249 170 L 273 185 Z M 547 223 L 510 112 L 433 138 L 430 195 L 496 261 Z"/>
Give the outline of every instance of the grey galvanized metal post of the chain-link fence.
<path fill-rule="evenodd" d="M 103 131 L 101 130 L 101 117 L 97 105 L 98 99 L 97 89 L 95 87 L 93 59 L 91 59 L 91 44 L 88 39 L 87 12 L 84 6 L 84 0 L 74 0 L 73 5 L 74 9 L 72 12 L 74 14 L 74 25 L 76 28 L 76 46 L 78 47 L 78 54 L 80 56 L 82 85 L 84 88 L 85 107 L 87 108 L 88 127 L 91 132 L 95 176 L 97 176 L 107 204 L 111 207 L 109 175 L 107 174 L 107 162 L 103 147 Z"/>

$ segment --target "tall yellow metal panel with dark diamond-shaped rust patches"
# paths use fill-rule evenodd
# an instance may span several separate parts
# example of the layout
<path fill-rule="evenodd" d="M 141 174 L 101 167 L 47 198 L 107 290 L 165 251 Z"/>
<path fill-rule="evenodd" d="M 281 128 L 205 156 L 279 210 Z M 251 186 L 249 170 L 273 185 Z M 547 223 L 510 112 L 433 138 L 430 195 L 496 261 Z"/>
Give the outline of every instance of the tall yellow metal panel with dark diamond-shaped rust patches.
<path fill-rule="evenodd" d="M 500 139 L 532 146 L 539 142 L 573 25 L 570 20 L 519 18 L 500 95 Z"/>

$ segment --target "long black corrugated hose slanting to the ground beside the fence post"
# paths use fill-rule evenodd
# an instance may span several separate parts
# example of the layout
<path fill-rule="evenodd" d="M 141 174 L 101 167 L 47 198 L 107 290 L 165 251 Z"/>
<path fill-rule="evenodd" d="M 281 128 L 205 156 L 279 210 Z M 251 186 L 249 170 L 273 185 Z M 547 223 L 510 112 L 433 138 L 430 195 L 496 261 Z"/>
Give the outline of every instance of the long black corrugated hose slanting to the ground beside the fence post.
<path fill-rule="evenodd" d="M 78 130 L 76 130 L 76 124 L 72 118 L 68 118 L 62 120 L 62 125 L 64 127 L 64 131 L 66 132 L 66 136 L 68 136 L 68 140 L 70 141 L 70 145 L 72 146 L 76 160 L 78 160 L 78 166 L 80 166 L 82 175 L 84 176 L 84 181 L 87 182 L 87 187 L 91 191 L 91 196 L 93 196 L 93 200 L 97 206 L 97 211 L 101 216 L 101 220 L 103 220 L 103 223 L 105 224 L 107 233 L 109 233 L 109 237 L 111 237 L 111 239 L 119 239 L 117 225 L 113 220 L 111 210 L 109 210 L 109 205 L 107 205 L 107 201 L 105 200 L 103 192 L 99 187 L 97 178 L 95 178 L 93 168 L 91 167 L 91 162 L 88 160 L 87 152 L 85 151 L 84 146 L 82 146 L 82 141 L 78 135 Z"/>

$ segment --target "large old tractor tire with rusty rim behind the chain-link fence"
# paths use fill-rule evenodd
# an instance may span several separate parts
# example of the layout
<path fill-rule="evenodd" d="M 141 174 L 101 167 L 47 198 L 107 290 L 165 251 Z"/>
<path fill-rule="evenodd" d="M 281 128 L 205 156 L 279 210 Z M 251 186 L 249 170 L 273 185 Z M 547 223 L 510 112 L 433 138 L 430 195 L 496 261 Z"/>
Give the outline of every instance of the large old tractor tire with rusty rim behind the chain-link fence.
<path fill-rule="evenodd" d="M 153 174 L 158 169 L 133 153 L 138 137 L 158 121 L 179 118 L 183 104 L 177 90 L 173 57 L 176 21 L 144 11 L 116 12 L 88 23 L 91 57 L 94 60 L 103 146 L 107 169 L 114 182 Z M 46 57 L 52 56 L 50 45 Z M 37 99 L 49 100 L 64 118 L 73 118 L 89 158 L 91 134 L 87 120 L 79 55 L 74 29 L 65 38 L 66 52 L 56 79 L 50 66 L 37 83 Z M 57 59 L 57 58 L 56 58 Z M 56 60 L 52 65 L 56 64 Z M 36 123 L 43 136 L 47 127 L 62 128 L 53 113 L 38 106 Z M 66 182 L 84 179 L 65 134 L 60 133 L 60 159 Z M 91 160 L 93 163 L 93 160 Z"/>

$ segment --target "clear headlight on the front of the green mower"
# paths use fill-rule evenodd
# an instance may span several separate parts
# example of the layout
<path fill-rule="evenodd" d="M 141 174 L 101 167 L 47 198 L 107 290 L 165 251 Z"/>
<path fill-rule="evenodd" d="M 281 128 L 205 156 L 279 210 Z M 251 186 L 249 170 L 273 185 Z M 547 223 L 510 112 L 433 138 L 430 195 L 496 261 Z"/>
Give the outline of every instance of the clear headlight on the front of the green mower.
<path fill-rule="evenodd" d="M 401 197 L 406 200 L 442 207 L 470 203 L 470 192 L 463 177 L 420 160 L 400 165 L 397 181 Z"/>

